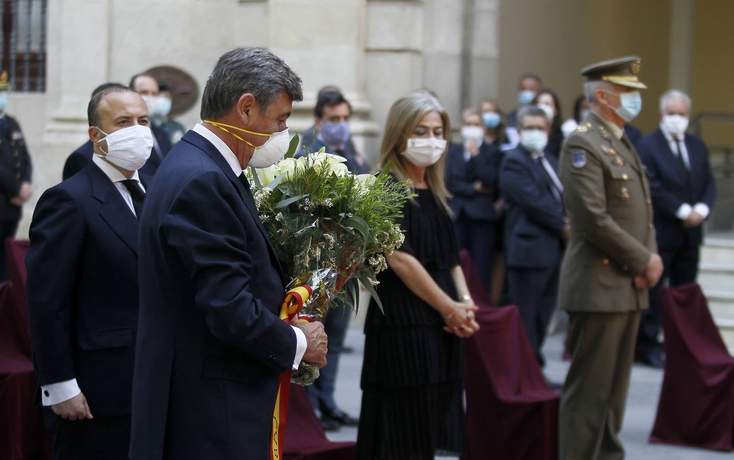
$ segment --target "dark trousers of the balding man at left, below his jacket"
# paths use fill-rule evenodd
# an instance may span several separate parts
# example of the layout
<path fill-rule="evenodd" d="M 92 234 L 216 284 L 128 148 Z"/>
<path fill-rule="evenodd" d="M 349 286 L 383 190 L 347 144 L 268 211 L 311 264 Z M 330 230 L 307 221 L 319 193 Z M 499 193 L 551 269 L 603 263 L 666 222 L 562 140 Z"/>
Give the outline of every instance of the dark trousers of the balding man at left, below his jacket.
<path fill-rule="evenodd" d="M 94 415 L 94 408 L 90 409 Z M 46 426 L 54 435 L 54 460 L 128 460 L 129 415 L 67 420 L 50 409 L 44 412 Z"/>

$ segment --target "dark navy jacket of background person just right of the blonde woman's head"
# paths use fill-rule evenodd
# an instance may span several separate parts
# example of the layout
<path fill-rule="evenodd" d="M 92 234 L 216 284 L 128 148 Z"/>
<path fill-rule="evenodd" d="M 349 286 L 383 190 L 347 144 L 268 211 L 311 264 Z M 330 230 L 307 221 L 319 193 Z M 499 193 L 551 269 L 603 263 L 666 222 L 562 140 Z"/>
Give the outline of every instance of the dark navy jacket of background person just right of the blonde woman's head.
<path fill-rule="evenodd" d="M 502 151 L 495 145 L 483 143 L 479 154 L 464 161 L 464 146 L 454 144 L 448 147 L 446 157 L 446 188 L 454 195 L 448 202 L 454 217 L 464 213 L 470 219 L 496 221 L 500 218 L 495 211 L 494 202 L 499 197 L 499 167 Z M 492 189 L 491 193 L 477 193 L 474 182 L 481 180 L 482 185 Z"/>

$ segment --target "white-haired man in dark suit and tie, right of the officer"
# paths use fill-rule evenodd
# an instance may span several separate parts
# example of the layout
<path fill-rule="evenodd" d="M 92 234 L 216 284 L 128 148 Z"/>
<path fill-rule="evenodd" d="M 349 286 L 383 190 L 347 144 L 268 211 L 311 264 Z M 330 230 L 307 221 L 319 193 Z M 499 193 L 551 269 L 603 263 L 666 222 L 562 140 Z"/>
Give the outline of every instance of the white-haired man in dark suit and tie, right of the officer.
<path fill-rule="evenodd" d="M 660 282 L 650 289 L 650 309 L 642 313 L 636 358 L 655 368 L 664 367 L 662 344 L 658 342 L 658 288 L 666 280 L 672 286 L 696 280 L 702 223 L 716 198 L 708 150 L 700 137 L 686 134 L 691 98 L 677 90 L 665 92 L 660 113 L 660 127 L 636 145 L 650 176 L 655 231 L 664 266 Z"/>

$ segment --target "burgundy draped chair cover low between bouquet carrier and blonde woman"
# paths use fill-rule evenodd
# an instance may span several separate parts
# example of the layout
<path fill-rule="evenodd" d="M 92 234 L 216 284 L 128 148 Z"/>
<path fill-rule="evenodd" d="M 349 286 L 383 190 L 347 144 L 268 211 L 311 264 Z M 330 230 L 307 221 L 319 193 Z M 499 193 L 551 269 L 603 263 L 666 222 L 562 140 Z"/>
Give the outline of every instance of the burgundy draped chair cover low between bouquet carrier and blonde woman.
<path fill-rule="evenodd" d="M 327 439 L 306 389 L 297 384 L 291 384 L 283 444 L 285 460 L 350 460 L 357 456 L 355 442 Z"/>

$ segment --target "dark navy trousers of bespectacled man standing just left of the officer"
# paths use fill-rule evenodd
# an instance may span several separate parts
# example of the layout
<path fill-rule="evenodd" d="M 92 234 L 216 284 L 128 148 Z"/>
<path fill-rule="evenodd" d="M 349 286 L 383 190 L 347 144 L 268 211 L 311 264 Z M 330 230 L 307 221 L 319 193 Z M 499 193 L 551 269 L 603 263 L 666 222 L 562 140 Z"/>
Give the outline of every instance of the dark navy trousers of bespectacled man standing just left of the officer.
<path fill-rule="evenodd" d="M 545 359 L 540 350 L 558 299 L 558 277 L 557 266 L 507 269 L 510 299 L 523 317 L 528 340 L 541 366 Z"/>

